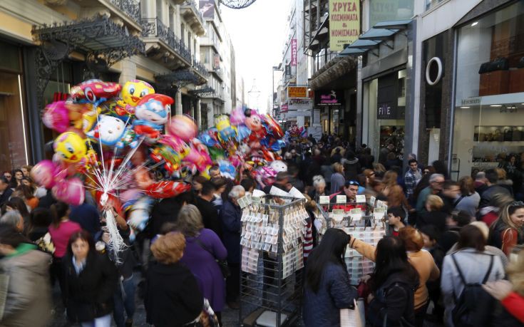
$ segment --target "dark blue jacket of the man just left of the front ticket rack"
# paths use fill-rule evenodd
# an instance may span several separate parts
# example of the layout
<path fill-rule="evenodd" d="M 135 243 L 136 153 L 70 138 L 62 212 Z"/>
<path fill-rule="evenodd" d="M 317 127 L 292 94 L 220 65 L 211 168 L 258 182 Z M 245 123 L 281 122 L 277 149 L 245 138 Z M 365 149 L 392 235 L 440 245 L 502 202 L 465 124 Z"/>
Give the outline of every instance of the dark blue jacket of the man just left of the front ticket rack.
<path fill-rule="evenodd" d="M 242 234 L 242 209 L 225 201 L 220 210 L 222 241 L 227 249 L 227 262 L 240 264 L 240 234 Z"/>

